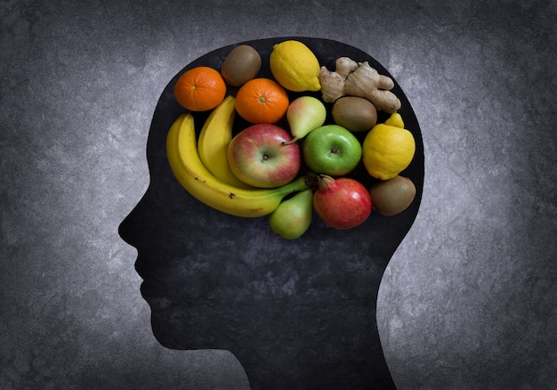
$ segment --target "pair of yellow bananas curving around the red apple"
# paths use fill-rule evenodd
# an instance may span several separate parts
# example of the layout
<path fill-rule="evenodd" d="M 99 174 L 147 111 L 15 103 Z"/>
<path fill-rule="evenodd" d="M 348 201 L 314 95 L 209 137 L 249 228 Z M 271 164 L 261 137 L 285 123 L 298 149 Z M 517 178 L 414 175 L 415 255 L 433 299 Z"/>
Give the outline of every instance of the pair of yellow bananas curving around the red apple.
<path fill-rule="evenodd" d="M 211 112 L 198 139 L 191 113 L 176 118 L 166 136 L 166 155 L 182 187 L 207 206 L 243 217 L 269 215 L 288 194 L 310 188 L 311 180 L 302 176 L 282 187 L 257 189 L 232 174 L 227 149 L 236 114 L 234 99 L 227 96 Z"/>

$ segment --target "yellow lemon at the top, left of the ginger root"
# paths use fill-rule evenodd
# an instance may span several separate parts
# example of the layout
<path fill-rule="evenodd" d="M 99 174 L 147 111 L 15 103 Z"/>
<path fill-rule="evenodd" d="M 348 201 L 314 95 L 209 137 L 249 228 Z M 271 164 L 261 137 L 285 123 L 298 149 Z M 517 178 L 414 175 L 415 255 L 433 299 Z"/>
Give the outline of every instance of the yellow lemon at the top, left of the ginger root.
<path fill-rule="evenodd" d="M 284 41 L 273 46 L 270 71 L 278 83 L 290 91 L 319 91 L 319 61 L 310 48 L 299 41 Z"/>

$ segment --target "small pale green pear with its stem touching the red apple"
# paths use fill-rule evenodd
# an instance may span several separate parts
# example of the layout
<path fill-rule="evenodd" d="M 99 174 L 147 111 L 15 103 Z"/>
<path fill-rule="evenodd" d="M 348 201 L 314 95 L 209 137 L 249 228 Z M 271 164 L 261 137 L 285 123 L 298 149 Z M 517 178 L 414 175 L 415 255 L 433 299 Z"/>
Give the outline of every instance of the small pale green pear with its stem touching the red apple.
<path fill-rule="evenodd" d="M 287 122 L 293 143 L 301 140 L 311 130 L 323 126 L 327 118 L 327 109 L 323 102 L 313 96 L 300 96 L 288 105 Z"/>

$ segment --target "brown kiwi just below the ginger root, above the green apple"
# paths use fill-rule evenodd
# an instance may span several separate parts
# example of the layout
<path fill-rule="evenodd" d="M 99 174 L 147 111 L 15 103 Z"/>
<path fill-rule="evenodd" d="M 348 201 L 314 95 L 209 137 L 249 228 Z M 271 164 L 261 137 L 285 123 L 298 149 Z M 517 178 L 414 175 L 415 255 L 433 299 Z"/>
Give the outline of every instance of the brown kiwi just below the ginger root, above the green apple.
<path fill-rule="evenodd" d="M 372 102 L 358 96 L 343 96 L 331 109 L 335 123 L 351 132 L 366 132 L 377 123 L 377 109 Z"/>

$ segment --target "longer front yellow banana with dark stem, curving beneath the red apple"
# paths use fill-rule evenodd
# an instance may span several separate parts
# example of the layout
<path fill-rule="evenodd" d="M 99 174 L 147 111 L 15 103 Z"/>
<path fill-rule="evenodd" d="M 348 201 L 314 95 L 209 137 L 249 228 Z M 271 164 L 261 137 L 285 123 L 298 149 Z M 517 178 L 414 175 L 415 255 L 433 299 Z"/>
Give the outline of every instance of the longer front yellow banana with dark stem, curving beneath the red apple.
<path fill-rule="evenodd" d="M 243 189 L 223 183 L 211 174 L 198 154 L 194 119 L 190 113 L 176 118 L 166 136 L 166 155 L 174 176 L 190 194 L 230 215 L 269 215 L 289 193 L 303 191 L 311 180 L 302 176 L 274 189 Z"/>

